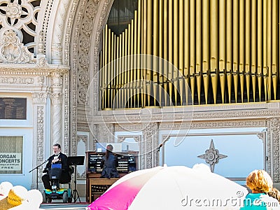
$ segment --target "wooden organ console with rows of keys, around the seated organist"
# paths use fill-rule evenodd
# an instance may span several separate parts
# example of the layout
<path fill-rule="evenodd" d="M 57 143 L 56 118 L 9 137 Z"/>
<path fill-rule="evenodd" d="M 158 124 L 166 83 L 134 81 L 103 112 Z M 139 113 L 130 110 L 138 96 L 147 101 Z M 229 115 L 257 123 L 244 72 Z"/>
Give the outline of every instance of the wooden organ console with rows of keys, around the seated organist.
<path fill-rule="evenodd" d="M 105 153 L 86 152 L 86 200 L 93 202 L 118 180 L 118 178 L 100 178 L 102 172 L 102 156 Z M 120 177 L 138 169 L 138 152 L 118 153 L 118 173 Z"/>

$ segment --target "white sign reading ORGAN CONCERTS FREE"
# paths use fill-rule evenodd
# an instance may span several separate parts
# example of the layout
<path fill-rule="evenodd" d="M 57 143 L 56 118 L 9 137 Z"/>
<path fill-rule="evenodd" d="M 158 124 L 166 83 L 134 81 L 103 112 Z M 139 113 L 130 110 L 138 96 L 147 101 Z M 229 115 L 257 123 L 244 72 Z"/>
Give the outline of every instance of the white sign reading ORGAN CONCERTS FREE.
<path fill-rule="evenodd" d="M 0 153 L 0 174 L 1 171 L 21 171 L 22 153 Z"/>

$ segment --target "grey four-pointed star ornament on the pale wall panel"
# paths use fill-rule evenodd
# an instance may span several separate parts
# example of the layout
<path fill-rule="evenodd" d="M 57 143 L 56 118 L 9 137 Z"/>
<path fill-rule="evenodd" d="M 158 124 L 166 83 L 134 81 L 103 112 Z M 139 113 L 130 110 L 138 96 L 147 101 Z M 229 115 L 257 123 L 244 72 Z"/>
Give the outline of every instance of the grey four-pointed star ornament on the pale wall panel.
<path fill-rule="evenodd" d="M 215 148 L 213 139 L 211 139 L 210 147 L 205 151 L 203 155 L 198 155 L 197 158 L 202 158 L 210 165 L 211 172 L 214 172 L 215 164 L 218 163 L 219 159 L 227 158 L 228 155 L 222 155 L 218 153 L 218 150 Z"/>

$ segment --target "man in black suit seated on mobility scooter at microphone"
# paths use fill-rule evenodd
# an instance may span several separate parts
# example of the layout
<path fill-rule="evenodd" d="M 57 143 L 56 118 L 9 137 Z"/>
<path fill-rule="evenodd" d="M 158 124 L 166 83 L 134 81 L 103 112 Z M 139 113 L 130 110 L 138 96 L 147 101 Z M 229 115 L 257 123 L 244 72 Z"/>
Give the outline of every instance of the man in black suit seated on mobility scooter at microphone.
<path fill-rule="evenodd" d="M 43 202 L 63 199 L 63 202 L 71 202 L 71 187 L 60 188 L 59 183 L 69 183 L 73 169 L 67 165 L 67 156 L 61 153 L 59 144 L 53 145 L 54 154 L 48 158 L 48 163 L 43 170 Z"/>

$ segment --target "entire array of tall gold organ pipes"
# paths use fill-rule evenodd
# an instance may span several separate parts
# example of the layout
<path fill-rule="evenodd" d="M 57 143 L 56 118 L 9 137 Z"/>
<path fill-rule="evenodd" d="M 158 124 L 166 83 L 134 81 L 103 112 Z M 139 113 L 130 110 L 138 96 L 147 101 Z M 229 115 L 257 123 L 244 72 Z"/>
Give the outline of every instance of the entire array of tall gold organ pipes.
<path fill-rule="evenodd" d="M 139 0 L 122 34 L 104 28 L 102 109 L 279 100 L 279 10 L 277 0 Z"/>

